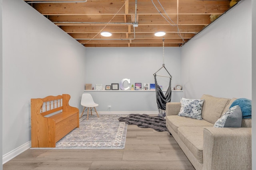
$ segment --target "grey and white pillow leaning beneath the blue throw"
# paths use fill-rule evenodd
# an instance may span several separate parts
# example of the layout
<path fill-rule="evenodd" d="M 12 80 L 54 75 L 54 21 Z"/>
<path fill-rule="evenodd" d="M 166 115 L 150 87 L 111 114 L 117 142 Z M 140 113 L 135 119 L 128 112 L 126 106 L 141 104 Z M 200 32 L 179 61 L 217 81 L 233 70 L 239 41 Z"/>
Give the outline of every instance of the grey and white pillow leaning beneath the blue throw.
<path fill-rule="evenodd" d="M 242 110 L 238 105 L 231 107 L 220 119 L 214 123 L 214 127 L 241 127 Z"/>

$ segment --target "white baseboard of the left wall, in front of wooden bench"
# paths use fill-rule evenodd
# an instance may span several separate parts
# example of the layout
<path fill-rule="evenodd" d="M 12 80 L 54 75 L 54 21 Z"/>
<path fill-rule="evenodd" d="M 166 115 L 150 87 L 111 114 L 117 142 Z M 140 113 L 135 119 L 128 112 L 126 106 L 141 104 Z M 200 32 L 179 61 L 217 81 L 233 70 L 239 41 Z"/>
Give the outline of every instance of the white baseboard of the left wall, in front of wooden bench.
<path fill-rule="evenodd" d="M 24 152 L 30 148 L 31 148 L 31 141 L 28 141 L 27 143 L 21 145 L 20 147 L 8 152 L 7 154 L 4 154 L 3 155 L 3 164 L 5 164 L 9 160 L 15 158 L 16 156 L 18 156 L 19 154 L 21 154 L 22 152 Z"/>

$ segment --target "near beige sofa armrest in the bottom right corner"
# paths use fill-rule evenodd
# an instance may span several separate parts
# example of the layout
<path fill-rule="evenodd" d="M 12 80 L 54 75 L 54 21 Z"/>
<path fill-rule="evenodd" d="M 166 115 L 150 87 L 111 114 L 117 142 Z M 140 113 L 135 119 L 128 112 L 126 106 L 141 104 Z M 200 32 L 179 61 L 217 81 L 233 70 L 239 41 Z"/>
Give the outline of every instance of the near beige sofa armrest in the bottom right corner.
<path fill-rule="evenodd" d="M 204 170 L 252 169 L 252 128 L 204 128 Z"/>

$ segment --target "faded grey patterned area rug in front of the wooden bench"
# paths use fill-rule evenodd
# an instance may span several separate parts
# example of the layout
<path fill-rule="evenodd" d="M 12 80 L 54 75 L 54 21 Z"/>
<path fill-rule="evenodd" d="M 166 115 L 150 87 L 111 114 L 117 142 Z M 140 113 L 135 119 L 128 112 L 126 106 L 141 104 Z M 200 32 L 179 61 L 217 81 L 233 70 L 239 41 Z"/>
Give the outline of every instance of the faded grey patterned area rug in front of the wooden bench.
<path fill-rule="evenodd" d="M 79 128 L 56 143 L 55 148 L 31 149 L 124 149 L 127 126 L 119 122 L 121 115 L 84 115 Z"/>

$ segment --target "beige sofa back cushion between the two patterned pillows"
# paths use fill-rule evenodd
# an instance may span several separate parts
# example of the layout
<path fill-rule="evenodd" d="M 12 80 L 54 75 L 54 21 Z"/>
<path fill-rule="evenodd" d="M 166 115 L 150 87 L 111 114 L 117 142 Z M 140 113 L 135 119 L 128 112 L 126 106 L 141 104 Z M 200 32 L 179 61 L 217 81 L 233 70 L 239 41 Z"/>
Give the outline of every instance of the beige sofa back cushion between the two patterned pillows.
<path fill-rule="evenodd" d="M 206 94 L 204 94 L 201 99 L 204 99 L 202 118 L 212 124 L 220 118 L 223 109 L 230 101 L 230 99 L 216 98 Z"/>

